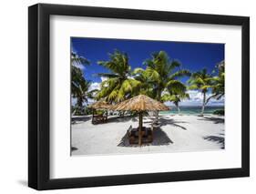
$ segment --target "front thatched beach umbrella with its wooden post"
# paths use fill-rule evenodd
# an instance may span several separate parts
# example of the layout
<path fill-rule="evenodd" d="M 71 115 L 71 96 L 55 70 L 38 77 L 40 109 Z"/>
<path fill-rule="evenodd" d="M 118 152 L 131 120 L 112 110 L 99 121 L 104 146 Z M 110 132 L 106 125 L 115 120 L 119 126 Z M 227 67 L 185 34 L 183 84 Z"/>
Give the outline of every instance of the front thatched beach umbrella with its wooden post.
<path fill-rule="evenodd" d="M 143 111 L 159 111 L 159 110 L 169 110 L 169 107 L 165 106 L 163 103 L 147 97 L 145 95 L 138 95 L 137 97 L 132 97 L 119 103 L 116 106 L 111 107 L 114 110 L 131 110 L 137 111 L 139 114 L 138 121 L 138 144 L 141 145 L 141 129 L 142 129 L 142 113 Z"/>

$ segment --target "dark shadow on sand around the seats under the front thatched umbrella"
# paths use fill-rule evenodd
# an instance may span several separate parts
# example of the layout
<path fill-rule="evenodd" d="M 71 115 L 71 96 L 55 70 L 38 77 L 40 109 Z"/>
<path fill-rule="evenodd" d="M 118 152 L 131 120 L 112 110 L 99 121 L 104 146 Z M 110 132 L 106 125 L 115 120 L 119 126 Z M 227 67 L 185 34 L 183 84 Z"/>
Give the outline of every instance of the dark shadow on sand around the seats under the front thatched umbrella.
<path fill-rule="evenodd" d="M 153 131 L 153 141 L 151 143 L 142 144 L 142 146 L 166 146 L 173 144 L 173 141 L 168 137 L 168 135 L 161 129 L 156 128 Z M 128 133 L 118 143 L 118 147 L 140 147 L 138 144 L 130 144 L 128 142 Z"/>

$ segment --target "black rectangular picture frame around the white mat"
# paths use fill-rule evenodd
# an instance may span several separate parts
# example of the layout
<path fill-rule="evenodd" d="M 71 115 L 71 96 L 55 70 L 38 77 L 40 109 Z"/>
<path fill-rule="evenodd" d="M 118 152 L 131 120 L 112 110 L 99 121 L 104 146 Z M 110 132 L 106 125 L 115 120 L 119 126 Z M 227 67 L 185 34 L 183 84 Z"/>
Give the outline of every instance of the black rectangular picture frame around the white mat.
<path fill-rule="evenodd" d="M 241 168 L 206 169 L 72 179 L 50 179 L 49 19 L 50 15 L 92 16 L 148 21 L 241 26 Z M 28 8 L 28 186 L 69 189 L 250 175 L 250 18 L 78 5 L 37 4 Z"/>

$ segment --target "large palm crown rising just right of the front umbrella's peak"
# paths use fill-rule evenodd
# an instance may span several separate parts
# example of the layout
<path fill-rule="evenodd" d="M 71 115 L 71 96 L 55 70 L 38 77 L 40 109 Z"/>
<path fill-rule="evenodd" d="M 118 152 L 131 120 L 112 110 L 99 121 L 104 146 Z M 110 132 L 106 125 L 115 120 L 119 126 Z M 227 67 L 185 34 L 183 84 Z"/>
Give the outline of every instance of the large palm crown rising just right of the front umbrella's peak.
<path fill-rule="evenodd" d="M 179 77 L 190 76 L 189 70 L 180 69 L 180 63 L 169 59 L 165 51 L 153 53 L 150 59 L 144 62 L 147 65 L 145 75 L 153 83 L 155 99 L 162 101 L 161 96 L 165 89 L 180 90 L 183 84 L 177 80 Z M 179 68 L 179 70 L 175 71 Z"/>

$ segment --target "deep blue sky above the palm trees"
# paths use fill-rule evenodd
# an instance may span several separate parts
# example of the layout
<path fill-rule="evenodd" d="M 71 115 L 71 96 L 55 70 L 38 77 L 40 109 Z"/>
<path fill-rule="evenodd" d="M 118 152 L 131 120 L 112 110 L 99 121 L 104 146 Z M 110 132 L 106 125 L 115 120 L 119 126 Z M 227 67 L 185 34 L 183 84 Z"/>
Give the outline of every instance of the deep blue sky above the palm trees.
<path fill-rule="evenodd" d="M 143 65 L 145 59 L 150 58 L 151 53 L 160 50 L 166 51 L 171 59 L 179 60 L 182 68 L 191 72 L 206 67 L 210 73 L 217 63 L 224 60 L 224 44 L 72 37 L 71 49 L 90 61 L 90 66 L 82 69 L 87 80 L 93 82 L 93 87 L 98 87 L 97 84 L 101 82 L 101 77 L 97 77 L 96 74 L 108 72 L 105 67 L 97 65 L 97 61 L 108 60 L 108 53 L 112 53 L 115 49 L 128 54 L 132 69 L 145 68 L 146 66 Z M 184 77 L 181 81 L 186 82 L 187 79 Z M 189 92 L 196 94 L 195 91 Z M 193 99 L 190 99 L 186 103 L 192 105 L 192 101 Z M 183 104 L 187 105 L 186 103 Z"/>

